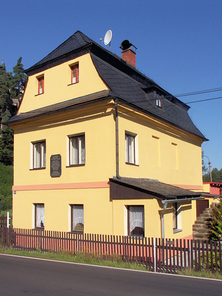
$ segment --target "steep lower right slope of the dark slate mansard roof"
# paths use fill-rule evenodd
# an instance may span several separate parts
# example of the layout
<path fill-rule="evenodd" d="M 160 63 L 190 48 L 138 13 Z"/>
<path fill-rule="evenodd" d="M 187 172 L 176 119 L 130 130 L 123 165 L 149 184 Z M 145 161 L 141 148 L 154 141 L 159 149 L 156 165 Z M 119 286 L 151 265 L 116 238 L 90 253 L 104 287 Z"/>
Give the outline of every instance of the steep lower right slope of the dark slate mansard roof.
<path fill-rule="evenodd" d="M 116 96 L 140 110 L 205 138 L 193 124 L 184 108 L 167 99 L 162 100 L 162 108 L 156 107 L 153 93 L 147 94 L 142 89 L 146 87 L 145 85 L 112 67 L 94 54 L 91 54 L 91 57 L 98 73 Z"/>

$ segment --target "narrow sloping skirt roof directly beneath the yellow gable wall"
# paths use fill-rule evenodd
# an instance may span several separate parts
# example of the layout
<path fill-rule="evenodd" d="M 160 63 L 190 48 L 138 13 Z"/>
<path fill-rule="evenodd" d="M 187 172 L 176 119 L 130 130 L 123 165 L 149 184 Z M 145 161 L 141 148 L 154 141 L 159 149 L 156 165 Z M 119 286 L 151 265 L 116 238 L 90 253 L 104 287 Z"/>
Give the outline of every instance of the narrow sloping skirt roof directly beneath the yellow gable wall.
<path fill-rule="evenodd" d="M 44 115 L 51 114 L 58 111 L 74 109 L 77 106 L 82 106 L 83 104 L 86 104 L 86 103 L 96 102 L 97 100 L 107 99 L 112 96 L 113 94 L 110 90 L 102 90 L 87 96 L 82 96 L 82 97 L 68 100 L 65 102 L 42 107 L 33 111 L 17 114 L 11 117 L 7 122 L 12 123 L 12 122 L 30 119 L 38 116 L 44 116 Z"/>

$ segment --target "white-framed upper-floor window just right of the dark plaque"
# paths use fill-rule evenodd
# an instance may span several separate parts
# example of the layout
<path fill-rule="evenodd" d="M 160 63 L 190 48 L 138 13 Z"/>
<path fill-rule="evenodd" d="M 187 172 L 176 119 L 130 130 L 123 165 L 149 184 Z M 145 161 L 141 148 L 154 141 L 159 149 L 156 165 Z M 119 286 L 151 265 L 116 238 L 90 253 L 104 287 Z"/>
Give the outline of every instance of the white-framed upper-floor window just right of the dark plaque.
<path fill-rule="evenodd" d="M 77 157 L 74 161 L 74 146 L 73 141 L 76 140 L 77 145 Z M 77 134 L 68 136 L 68 159 L 67 159 L 67 166 L 77 166 L 77 165 L 84 165 L 85 164 L 85 134 Z M 84 149 L 84 150 L 82 150 Z"/>

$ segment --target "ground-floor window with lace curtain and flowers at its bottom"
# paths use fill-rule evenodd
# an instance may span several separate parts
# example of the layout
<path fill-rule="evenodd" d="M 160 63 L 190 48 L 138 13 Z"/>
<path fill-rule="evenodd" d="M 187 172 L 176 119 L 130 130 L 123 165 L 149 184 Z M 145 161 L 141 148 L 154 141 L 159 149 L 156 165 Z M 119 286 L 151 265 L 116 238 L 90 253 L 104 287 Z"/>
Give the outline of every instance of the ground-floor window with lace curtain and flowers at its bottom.
<path fill-rule="evenodd" d="M 72 231 L 84 231 L 84 211 L 83 205 L 71 205 L 71 230 Z"/>

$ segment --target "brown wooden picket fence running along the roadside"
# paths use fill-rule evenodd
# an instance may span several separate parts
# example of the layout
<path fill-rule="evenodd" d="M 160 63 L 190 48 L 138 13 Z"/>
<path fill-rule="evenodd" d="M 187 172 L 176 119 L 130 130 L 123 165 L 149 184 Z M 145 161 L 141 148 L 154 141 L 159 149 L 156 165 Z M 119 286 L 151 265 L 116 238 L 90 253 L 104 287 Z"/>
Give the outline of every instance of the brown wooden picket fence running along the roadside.
<path fill-rule="evenodd" d="M 0 244 L 15 250 L 62 251 L 121 259 L 156 272 L 177 273 L 189 268 L 222 273 L 221 242 L 0 227 Z"/>

